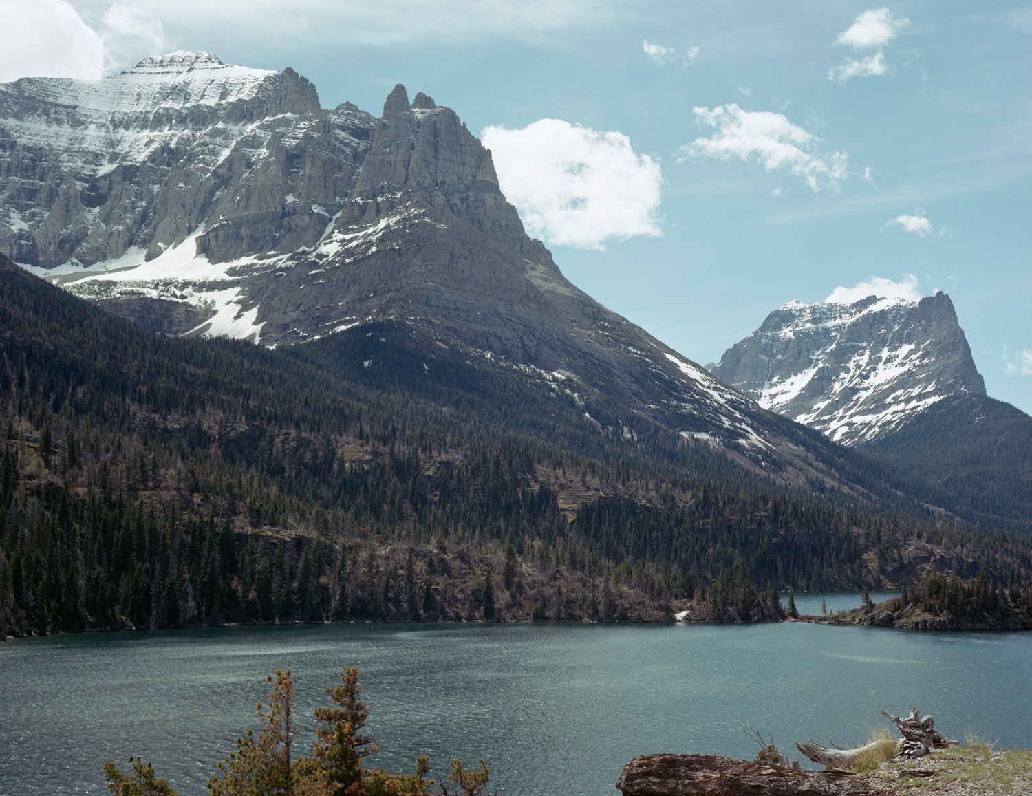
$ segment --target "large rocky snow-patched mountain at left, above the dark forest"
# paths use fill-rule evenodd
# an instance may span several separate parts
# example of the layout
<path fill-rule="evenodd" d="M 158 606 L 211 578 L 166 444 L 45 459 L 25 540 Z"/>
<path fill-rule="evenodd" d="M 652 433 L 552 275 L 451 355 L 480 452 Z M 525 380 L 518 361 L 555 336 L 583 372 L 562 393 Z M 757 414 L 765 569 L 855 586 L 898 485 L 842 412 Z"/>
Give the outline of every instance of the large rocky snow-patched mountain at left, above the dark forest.
<path fill-rule="evenodd" d="M 657 420 L 796 484 L 853 467 L 571 284 L 425 94 L 395 87 L 380 118 L 324 110 L 290 69 L 180 52 L 2 86 L 0 136 L 0 251 L 151 328 L 281 347 L 395 320 L 605 395 L 627 410 L 610 434 Z"/>

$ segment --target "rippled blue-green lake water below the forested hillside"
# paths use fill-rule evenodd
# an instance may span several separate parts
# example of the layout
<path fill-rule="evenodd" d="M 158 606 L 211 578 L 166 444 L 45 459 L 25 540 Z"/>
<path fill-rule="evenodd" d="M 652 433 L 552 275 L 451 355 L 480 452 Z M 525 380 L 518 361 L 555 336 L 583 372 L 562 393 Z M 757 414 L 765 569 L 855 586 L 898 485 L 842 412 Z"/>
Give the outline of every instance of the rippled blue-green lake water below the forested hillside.
<path fill-rule="evenodd" d="M 875 600 L 888 595 L 874 594 Z M 803 613 L 859 595 L 797 595 Z M 783 601 L 784 602 L 784 601 Z M 0 645 L 0 794 L 103 794 L 103 763 L 154 762 L 204 793 L 257 728 L 266 675 L 291 669 L 295 755 L 314 707 L 357 666 L 381 751 L 430 775 L 481 758 L 503 796 L 615 796 L 654 752 L 751 759 L 747 732 L 842 746 L 916 705 L 947 736 L 1032 746 L 1032 634 L 771 625 L 291 625 L 89 633 Z M 810 765 L 809 761 L 804 760 Z"/>

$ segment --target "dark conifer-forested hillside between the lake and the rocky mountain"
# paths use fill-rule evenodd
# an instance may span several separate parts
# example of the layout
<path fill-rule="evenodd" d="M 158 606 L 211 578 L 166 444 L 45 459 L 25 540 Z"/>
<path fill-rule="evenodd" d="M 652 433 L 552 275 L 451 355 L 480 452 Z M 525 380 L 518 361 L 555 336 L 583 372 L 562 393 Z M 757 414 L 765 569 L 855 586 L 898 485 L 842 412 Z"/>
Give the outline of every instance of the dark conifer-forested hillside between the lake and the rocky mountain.
<path fill-rule="evenodd" d="M 770 618 L 768 585 L 1017 581 L 886 483 L 775 486 L 402 324 L 182 340 L 0 262 L 0 636 L 325 619 Z M 852 454 L 850 454 L 852 455 Z"/>

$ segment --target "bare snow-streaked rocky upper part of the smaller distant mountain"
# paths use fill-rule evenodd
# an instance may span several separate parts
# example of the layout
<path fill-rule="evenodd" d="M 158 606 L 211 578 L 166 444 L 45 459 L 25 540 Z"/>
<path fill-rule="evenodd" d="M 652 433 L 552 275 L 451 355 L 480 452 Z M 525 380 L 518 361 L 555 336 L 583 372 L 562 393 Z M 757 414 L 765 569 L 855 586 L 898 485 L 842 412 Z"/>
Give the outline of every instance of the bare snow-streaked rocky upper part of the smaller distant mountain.
<path fill-rule="evenodd" d="M 846 445 L 891 436 L 944 399 L 986 394 L 941 292 L 920 301 L 789 301 L 710 371 L 760 406 Z"/>

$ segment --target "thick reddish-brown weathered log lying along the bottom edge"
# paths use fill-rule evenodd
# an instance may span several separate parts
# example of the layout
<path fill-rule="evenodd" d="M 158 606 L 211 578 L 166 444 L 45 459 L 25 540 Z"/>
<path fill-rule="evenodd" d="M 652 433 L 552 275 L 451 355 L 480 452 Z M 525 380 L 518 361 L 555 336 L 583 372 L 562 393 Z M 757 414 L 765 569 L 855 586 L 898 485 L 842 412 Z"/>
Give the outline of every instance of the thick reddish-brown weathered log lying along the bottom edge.
<path fill-rule="evenodd" d="M 800 771 L 716 755 L 642 755 L 616 782 L 623 796 L 874 796 L 884 786 L 848 771 Z"/>

